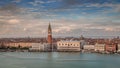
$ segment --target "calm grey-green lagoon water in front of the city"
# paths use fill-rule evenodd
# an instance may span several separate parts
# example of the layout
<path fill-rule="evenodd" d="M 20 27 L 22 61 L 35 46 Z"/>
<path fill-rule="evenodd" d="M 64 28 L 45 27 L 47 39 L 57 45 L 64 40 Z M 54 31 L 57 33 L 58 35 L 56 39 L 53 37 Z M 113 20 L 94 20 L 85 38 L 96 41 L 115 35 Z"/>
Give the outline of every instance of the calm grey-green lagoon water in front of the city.
<path fill-rule="evenodd" d="M 0 68 L 120 68 L 120 55 L 75 52 L 1 52 Z"/>

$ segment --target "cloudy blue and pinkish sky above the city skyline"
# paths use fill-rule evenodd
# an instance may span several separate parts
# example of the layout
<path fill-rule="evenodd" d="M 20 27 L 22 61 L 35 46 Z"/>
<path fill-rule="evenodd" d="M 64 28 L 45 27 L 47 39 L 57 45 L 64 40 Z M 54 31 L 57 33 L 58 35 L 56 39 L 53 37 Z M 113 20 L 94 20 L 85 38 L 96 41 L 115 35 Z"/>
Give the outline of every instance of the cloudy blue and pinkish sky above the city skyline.
<path fill-rule="evenodd" d="M 120 0 L 0 0 L 0 37 L 120 36 Z"/>

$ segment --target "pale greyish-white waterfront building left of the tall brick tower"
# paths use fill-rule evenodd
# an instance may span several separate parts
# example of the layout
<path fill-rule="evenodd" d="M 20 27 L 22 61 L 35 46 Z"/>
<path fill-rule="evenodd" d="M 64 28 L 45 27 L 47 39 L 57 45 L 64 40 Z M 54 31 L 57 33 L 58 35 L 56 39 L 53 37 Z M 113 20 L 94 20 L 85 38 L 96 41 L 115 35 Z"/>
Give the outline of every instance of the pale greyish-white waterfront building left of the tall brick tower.
<path fill-rule="evenodd" d="M 44 44 L 41 43 L 31 43 L 30 51 L 44 51 Z"/>

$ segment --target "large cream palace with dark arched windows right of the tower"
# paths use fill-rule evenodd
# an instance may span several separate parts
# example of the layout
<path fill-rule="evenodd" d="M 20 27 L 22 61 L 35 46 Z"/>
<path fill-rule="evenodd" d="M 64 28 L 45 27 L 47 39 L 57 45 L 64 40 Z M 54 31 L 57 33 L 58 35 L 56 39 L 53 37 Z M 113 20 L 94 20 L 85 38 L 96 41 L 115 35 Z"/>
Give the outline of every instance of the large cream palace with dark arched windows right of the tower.
<path fill-rule="evenodd" d="M 58 41 L 57 51 L 80 51 L 80 41 Z"/>

